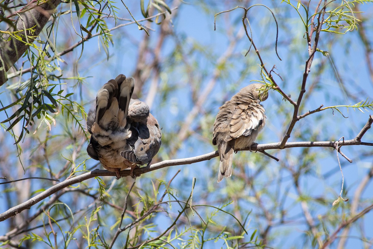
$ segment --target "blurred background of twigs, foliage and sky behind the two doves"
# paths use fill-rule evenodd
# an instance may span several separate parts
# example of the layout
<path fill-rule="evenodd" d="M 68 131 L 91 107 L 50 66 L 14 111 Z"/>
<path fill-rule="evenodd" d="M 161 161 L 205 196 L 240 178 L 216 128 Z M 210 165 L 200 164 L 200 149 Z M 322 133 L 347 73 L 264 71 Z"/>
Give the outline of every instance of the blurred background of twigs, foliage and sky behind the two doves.
<path fill-rule="evenodd" d="M 341 106 L 297 122 L 288 141 L 354 138 L 373 99 L 372 5 L 326 3 L 323 30 L 300 114 Z M 296 100 L 308 59 L 306 30 L 319 1 L 64 1 L 1 86 L 0 176 L 11 181 L 63 181 L 101 168 L 88 159 L 86 113 L 97 90 L 118 74 L 135 78 L 135 94 L 162 127 L 154 162 L 216 150 L 219 106 L 261 79 L 251 37 L 274 78 Z M 5 31 L 25 6 L 2 1 Z M 14 7 L 13 7 L 14 6 Z M 319 8 L 319 10 L 321 7 Z M 276 55 L 276 22 L 278 54 Z M 364 12 L 362 12 L 364 11 Z M 316 13 L 316 14 L 315 14 Z M 317 16 L 316 16 L 317 17 Z M 246 24 L 248 24 L 246 22 Z M 315 25 L 317 18 L 315 18 Z M 313 40 L 312 40 L 313 43 Z M 248 53 L 247 53 L 248 52 Z M 245 56 L 245 54 L 247 55 Z M 325 56 L 327 55 L 327 56 Z M 346 108 L 368 98 L 366 109 Z M 281 141 L 293 106 L 270 90 L 258 143 Z M 370 111 L 372 113 L 372 111 Z M 373 139 L 369 130 L 363 141 Z M 330 148 L 238 152 L 231 178 L 216 183 L 218 159 L 116 180 L 86 180 L 0 223 L 3 248 L 371 248 L 372 149 L 345 146 L 353 162 Z M 1 185 L 1 212 L 56 184 L 28 179 Z M 130 191 L 132 187 L 132 190 Z M 125 207 L 125 208 L 124 208 Z M 366 209 L 364 215 L 361 212 Z M 125 212 L 124 212 L 124 211 Z M 123 215 L 123 222 L 121 222 Z M 354 220 L 354 217 L 358 219 Z M 122 232 L 118 232 L 118 228 Z M 246 233 L 247 232 L 247 233 Z M 330 243 L 330 244 L 329 244 Z"/>

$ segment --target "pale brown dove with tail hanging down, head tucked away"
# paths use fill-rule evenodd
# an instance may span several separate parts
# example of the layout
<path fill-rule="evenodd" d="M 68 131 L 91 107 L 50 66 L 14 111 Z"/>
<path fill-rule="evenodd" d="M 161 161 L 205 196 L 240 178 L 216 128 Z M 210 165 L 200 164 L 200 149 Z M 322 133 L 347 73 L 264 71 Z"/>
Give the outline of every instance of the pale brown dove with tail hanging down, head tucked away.
<path fill-rule="evenodd" d="M 217 182 L 232 175 L 233 152 L 249 148 L 266 124 L 261 101 L 268 98 L 260 83 L 250 84 L 236 93 L 219 109 L 214 122 L 213 145 L 217 145 L 220 156 Z"/>

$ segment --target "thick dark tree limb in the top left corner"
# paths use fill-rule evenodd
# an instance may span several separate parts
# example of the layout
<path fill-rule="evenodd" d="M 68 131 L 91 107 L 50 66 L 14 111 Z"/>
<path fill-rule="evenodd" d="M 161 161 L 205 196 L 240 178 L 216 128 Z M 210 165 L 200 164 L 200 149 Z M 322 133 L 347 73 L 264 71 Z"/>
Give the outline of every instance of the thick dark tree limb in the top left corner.
<path fill-rule="evenodd" d="M 38 1 L 34 1 L 29 6 L 30 10 L 19 14 L 14 26 L 11 26 L 7 32 L 20 31 L 17 32 L 17 35 L 22 37 L 22 41 L 17 40 L 11 34 L 2 35 L 0 38 L 0 67 L 3 69 L 0 70 L 0 85 L 7 81 L 6 72 L 25 53 L 29 46 L 27 44 L 34 42 L 35 37 L 40 34 L 60 2 L 61 0 L 50 0 L 38 5 Z M 25 29 L 31 28 L 35 32 L 27 31 L 25 34 Z"/>

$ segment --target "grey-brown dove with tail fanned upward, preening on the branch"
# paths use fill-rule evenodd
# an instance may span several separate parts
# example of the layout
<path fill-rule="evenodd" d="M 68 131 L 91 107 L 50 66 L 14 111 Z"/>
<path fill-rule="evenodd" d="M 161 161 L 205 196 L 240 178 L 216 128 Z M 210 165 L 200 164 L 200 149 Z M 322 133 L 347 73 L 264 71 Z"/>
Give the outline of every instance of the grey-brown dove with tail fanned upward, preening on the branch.
<path fill-rule="evenodd" d="M 88 155 L 104 168 L 116 172 L 150 164 L 161 146 L 162 132 L 149 106 L 131 99 L 135 80 L 120 74 L 98 91 L 96 108 L 88 112 L 87 128 L 92 134 Z"/>

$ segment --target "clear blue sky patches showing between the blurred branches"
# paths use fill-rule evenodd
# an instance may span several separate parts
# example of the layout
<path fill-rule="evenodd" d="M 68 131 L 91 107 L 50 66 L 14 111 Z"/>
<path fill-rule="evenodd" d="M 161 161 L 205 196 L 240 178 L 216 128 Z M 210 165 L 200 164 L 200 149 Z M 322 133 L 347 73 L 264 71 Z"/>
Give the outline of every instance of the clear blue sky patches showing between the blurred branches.
<path fill-rule="evenodd" d="M 276 7 L 283 7 L 284 4 L 273 3 L 273 1 L 263 1 L 266 4 L 274 4 L 274 10 Z M 120 3 L 119 3 L 120 5 Z M 121 6 L 121 5 L 120 5 Z M 132 9 L 137 9 L 137 5 L 131 6 Z M 130 7 L 130 8 L 131 8 Z M 235 6 L 229 6 L 229 3 L 225 5 L 216 4 L 216 6 L 211 7 L 209 12 L 204 12 L 203 5 L 199 4 L 198 1 L 192 1 L 191 4 L 182 4 L 178 9 L 179 16 L 174 22 L 174 31 L 176 34 L 184 37 L 184 49 L 185 51 L 196 51 L 200 49 L 200 53 L 206 53 L 209 56 L 200 56 L 197 52 L 191 53 L 191 56 L 188 58 L 191 64 L 197 64 L 198 70 L 194 72 L 194 75 L 201 79 L 198 82 L 201 90 L 203 90 L 211 79 L 211 72 L 216 66 L 216 59 L 219 58 L 223 52 L 229 46 L 229 38 L 226 29 L 232 27 L 233 34 L 239 32 L 241 25 L 241 16 L 242 10 L 235 10 L 230 13 L 224 13 L 217 18 L 217 31 L 213 30 L 214 22 L 214 13 L 232 8 Z M 366 13 L 365 16 L 369 17 L 372 14 L 371 5 L 365 4 L 361 6 L 361 9 L 364 9 Z M 283 81 L 278 77 L 275 77 L 278 84 L 285 93 L 291 94 L 292 98 L 296 99 L 300 89 L 300 83 L 304 71 L 304 63 L 307 59 L 307 46 L 303 38 L 303 29 L 300 24 L 299 17 L 294 10 L 288 10 L 287 12 L 276 12 L 276 15 L 284 15 L 289 18 L 288 23 L 279 25 L 279 55 L 282 58 L 280 61 L 274 53 L 274 49 L 266 50 L 265 47 L 273 47 L 275 40 L 275 25 L 270 12 L 268 12 L 263 7 L 255 7 L 250 12 L 250 21 L 251 28 L 253 29 L 253 38 L 257 46 L 262 49 L 263 59 L 265 60 L 266 66 L 270 69 L 272 65 L 276 65 L 277 71 Z M 141 13 L 134 12 L 136 18 L 141 18 Z M 118 16 L 123 18 L 130 18 L 128 12 L 124 8 L 120 9 Z M 64 17 L 64 23 L 69 27 L 69 16 Z M 366 28 L 372 27 L 372 21 L 367 22 Z M 70 27 L 69 27 L 70 28 Z M 71 32 L 71 31 L 70 31 Z M 106 55 L 103 50 L 98 50 L 99 44 L 98 38 L 93 38 L 90 41 L 85 43 L 84 52 L 82 58 L 77 62 L 76 68 L 78 69 L 79 75 L 82 77 L 88 77 L 85 81 L 86 84 L 83 85 L 82 89 L 84 91 L 84 99 L 82 103 L 88 103 L 91 100 L 95 99 L 95 94 L 97 90 L 101 87 L 102 84 L 106 83 L 110 78 L 115 78 L 116 75 L 123 73 L 127 76 L 131 76 L 131 73 L 134 71 L 135 63 L 137 60 L 138 53 L 138 44 L 142 40 L 144 35 L 143 31 L 139 31 L 136 25 L 129 25 L 120 29 L 113 31 L 113 41 L 114 45 L 109 47 L 110 59 L 106 60 Z M 157 32 L 150 31 L 151 42 L 154 43 L 157 37 Z M 128 37 L 130 35 L 131 37 Z M 372 35 L 369 32 L 369 35 Z M 75 37 L 75 34 L 72 34 L 71 37 Z M 69 37 L 69 38 L 71 38 Z M 154 38 L 153 38 L 154 37 Z M 371 37 L 371 36 L 370 36 Z M 318 85 L 318 89 L 313 92 L 311 96 L 304 102 L 302 113 L 308 110 L 313 110 L 318 108 L 321 104 L 324 106 L 333 106 L 333 105 L 348 105 L 350 103 L 355 104 L 360 100 L 365 100 L 367 97 L 369 100 L 373 100 L 373 84 L 369 78 L 367 71 L 367 66 L 365 65 L 364 60 L 364 51 L 360 40 L 357 39 L 357 32 L 348 32 L 343 35 L 333 35 L 326 32 L 321 34 L 320 49 L 327 50 L 330 53 L 330 58 L 338 68 L 342 81 L 338 83 L 336 81 L 335 74 L 331 70 L 326 70 L 325 72 L 320 73 L 322 78 L 322 84 Z M 60 37 L 63 41 L 65 37 Z M 339 39 L 341 41 L 339 41 Z M 333 46 L 328 46 L 328 41 L 333 41 Z M 70 43 L 73 43 L 73 39 L 69 40 Z M 348 46 L 346 46 L 348 44 Z M 162 50 L 162 58 L 169 58 L 170 53 L 174 50 L 175 42 L 172 39 L 166 41 L 166 46 Z M 260 67 L 257 65 L 258 59 L 253 51 L 244 57 L 244 53 L 247 51 L 250 46 L 248 40 L 243 36 L 240 40 L 237 41 L 237 46 L 233 52 L 232 58 L 227 63 L 229 68 L 229 74 L 223 75 L 217 80 L 217 84 L 213 91 L 211 91 L 209 99 L 204 102 L 202 110 L 206 112 L 207 116 L 213 118 L 217 111 L 218 107 L 222 103 L 229 99 L 234 93 L 238 91 L 241 87 L 249 84 L 251 80 L 260 79 Z M 193 48 L 197 47 L 196 50 Z M 73 56 L 78 59 L 80 55 L 80 50 L 77 49 L 74 51 Z M 325 62 L 326 60 L 326 62 Z M 168 61 L 162 61 L 162 65 L 168 65 Z M 330 60 L 325 59 L 317 53 L 315 56 L 313 66 L 310 72 L 309 81 L 307 87 L 312 83 L 312 80 L 317 78 L 319 75 L 317 72 L 317 67 L 320 63 L 326 63 L 327 69 L 330 69 L 331 63 Z M 74 74 L 72 70 L 72 65 L 64 65 L 65 68 L 64 74 L 70 76 Z M 246 68 L 251 70 L 251 73 L 246 77 L 242 82 L 237 82 L 240 76 L 240 72 Z M 253 70 L 254 69 L 254 70 Z M 160 126 L 163 127 L 166 131 L 176 130 L 178 128 L 178 122 L 181 122 L 185 113 L 188 113 L 191 109 L 192 99 L 190 97 L 190 87 L 188 83 L 188 77 L 185 74 L 184 68 L 179 65 L 176 65 L 171 72 L 168 68 L 164 68 L 164 75 L 162 76 L 163 83 L 173 86 L 177 86 L 177 90 L 172 92 L 172 95 L 166 100 L 168 106 L 163 108 L 157 108 L 157 105 L 161 103 L 161 95 L 157 94 L 154 100 L 152 113 L 159 120 Z M 147 81 L 144 87 L 144 98 L 147 96 L 147 89 L 149 89 L 150 80 Z M 351 90 L 354 96 L 345 96 L 341 90 L 341 85 L 347 87 Z M 160 82 L 162 86 L 162 82 Z M 1 88 L 1 91 L 5 91 L 4 86 Z M 68 89 L 67 91 L 74 91 Z M 6 93 L 3 93 L 4 96 Z M 307 92 L 306 92 L 307 94 Z M 4 97 L 3 97 L 4 98 Z M 76 100 L 80 100 L 76 96 Z M 93 104 L 92 104 L 93 105 Z M 86 105 L 87 109 L 92 105 Z M 290 118 L 292 115 L 292 106 L 288 102 L 282 101 L 282 96 L 276 92 L 270 92 L 270 97 L 266 102 L 263 102 L 264 107 L 266 108 L 266 113 L 268 116 L 268 121 L 263 135 L 260 137 L 258 143 L 272 143 L 280 141 L 285 130 L 288 127 Z M 280 110 L 287 110 L 282 112 Z M 313 138 L 319 141 L 328 141 L 328 140 L 338 140 L 340 137 L 345 136 L 345 139 L 352 139 L 356 134 L 361 130 L 363 125 L 368 119 L 369 112 L 361 113 L 359 111 L 353 111 L 349 109 L 341 108 L 341 111 L 348 116 L 348 119 L 342 118 L 338 112 L 332 114 L 331 110 L 326 110 L 315 115 L 308 116 L 297 123 L 295 130 L 293 131 L 292 137 L 289 141 L 303 141 L 311 139 L 311 137 L 301 137 L 300 134 L 303 130 L 313 131 Z M 280 115 L 278 115 L 280 113 Z M 372 113 L 372 111 L 370 112 Z M 1 118 L 4 117 L 4 113 L 0 113 Z M 197 122 L 194 123 L 195 127 L 203 123 L 203 115 L 199 116 Z M 192 130 L 193 128 L 192 127 Z M 61 129 L 61 126 L 57 125 L 57 131 Z M 211 128 L 212 131 L 212 128 Z M 368 133 L 364 136 L 363 141 L 372 141 L 372 131 L 369 130 Z M 8 133 L 4 133 L 4 136 L 9 136 Z M 204 153 L 211 152 L 216 150 L 216 147 L 213 147 L 211 143 L 204 142 L 200 136 L 204 134 L 194 134 L 192 135 L 181 147 L 176 158 L 184 158 L 190 156 L 201 155 Z M 211 135 L 212 136 L 212 135 Z M 211 140 L 211 137 L 206 137 L 206 139 Z M 9 138 L 8 138 L 9 139 Z M 10 139 L 9 139 L 10 140 Z M 8 140 L 8 141 L 9 141 Z M 10 144 L 10 141 L 9 141 Z M 163 152 L 164 156 L 166 151 Z M 278 158 L 284 158 L 286 153 L 290 153 L 292 158 L 292 164 L 301 164 L 302 158 L 298 156 L 301 155 L 302 149 L 294 148 L 285 150 L 273 150 L 270 153 Z M 364 151 L 369 152 L 370 148 L 362 146 L 345 146 L 342 150 L 347 156 L 349 156 L 353 162 L 352 164 L 346 163 L 345 159 L 339 156 L 342 165 L 344 166 L 343 172 L 345 176 L 345 189 L 348 190 L 347 197 L 352 199 L 353 193 L 356 190 L 361 179 L 366 175 L 367 169 L 371 167 L 372 161 L 371 157 L 360 159 L 360 155 Z M 162 152 L 161 152 L 162 153 Z M 254 169 L 257 169 L 257 164 L 255 160 L 252 159 L 249 152 L 239 152 L 239 153 L 248 153 L 247 157 L 247 174 L 251 174 Z M 317 156 L 320 158 L 317 162 L 317 165 L 313 165 L 314 175 L 302 178 L 300 185 L 303 189 L 312 196 L 325 196 L 328 201 L 336 199 L 338 197 L 341 185 L 341 175 L 339 172 L 338 161 L 336 159 L 335 151 L 332 152 L 330 148 L 311 148 L 310 153 L 317 153 Z M 257 155 L 255 155 L 257 158 Z M 91 160 L 93 161 L 93 160 Z M 254 161 L 254 162 L 253 162 Z M 94 162 L 91 162 L 92 164 Z M 189 192 L 190 182 L 189 180 L 192 177 L 197 177 L 197 186 L 196 190 L 203 192 L 206 188 L 214 187 L 216 191 L 222 193 L 222 189 L 225 185 L 222 186 L 216 184 L 215 182 L 205 182 L 207 177 L 213 174 L 209 167 L 217 167 L 217 159 L 213 159 L 209 162 L 201 162 L 188 166 L 174 166 L 164 170 L 167 170 L 167 175 L 172 176 L 178 169 L 182 169 L 181 174 L 175 180 L 182 182 L 181 186 L 184 186 L 185 183 L 185 192 Z M 326 172 L 329 172 L 331 169 L 335 169 L 330 177 L 327 180 L 320 183 L 317 175 L 323 175 Z M 270 191 L 276 190 L 278 188 L 277 179 L 278 174 L 281 174 L 280 177 L 284 178 L 284 182 L 280 187 L 281 193 L 285 193 L 285 190 L 292 185 L 292 181 L 289 178 L 289 175 L 286 175 L 280 169 L 280 164 L 270 160 L 266 169 L 258 175 L 258 180 L 268 183 L 268 188 Z M 286 178 L 289 178 L 286 181 Z M 232 184 L 234 177 L 227 180 L 227 183 L 223 184 Z M 372 183 L 367 187 L 366 191 L 363 194 L 363 198 L 370 198 L 370 193 L 372 192 Z M 183 190 L 183 191 L 184 191 Z M 247 194 L 250 195 L 250 190 L 247 190 Z M 285 206 L 292 207 L 290 208 L 291 212 L 294 212 L 294 215 L 300 214 L 300 208 L 296 202 L 297 195 L 294 192 L 294 189 L 291 189 L 288 193 L 288 198 L 286 199 Z M 198 202 L 198 197 L 195 199 L 195 202 Z M 242 202 L 250 203 L 250 201 L 242 200 Z M 268 206 L 272 204 L 268 203 Z M 330 205 L 331 206 L 331 205 Z M 253 205 L 253 209 L 255 209 Z M 342 208 L 342 207 L 339 207 Z M 311 206 L 313 214 L 324 214 L 325 208 L 319 205 Z M 314 215 L 316 217 L 316 215 Z M 372 234 L 373 230 L 370 226 L 370 222 L 373 219 L 373 214 L 369 213 L 366 215 L 366 223 L 364 228 L 366 229 L 366 234 Z M 259 220 L 253 221 L 251 225 L 254 227 L 259 223 Z M 294 226 L 294 227 L 293 227 Z M 285 228 L 284 228 L 285 227 Z M 304 227 L 303 227 L 304 228 Z M 282 229 L 289 229 L 289 234 L 291 234 L 294 240 L 284 238 L 278 240 L 275 243 L 276 245 L 298 245 L 295 240 L 298 240 L 302 236 L 299 230 L 302 230 L 302 227 L 298 227 L 297 224 L 286 225 L 283 227 L 276 228 L 280 231 Z M 355 231 L 354 234 L 359 236 L 358 231 Z M 353 234 L 353 235 L 354 235 Z M 351 239 L 348 246 L 354 245 L 356 241 Z M 299 245 L 298 245 L 299 246 Z M 214 248 L 213 244 L 210 248 Z"/>

